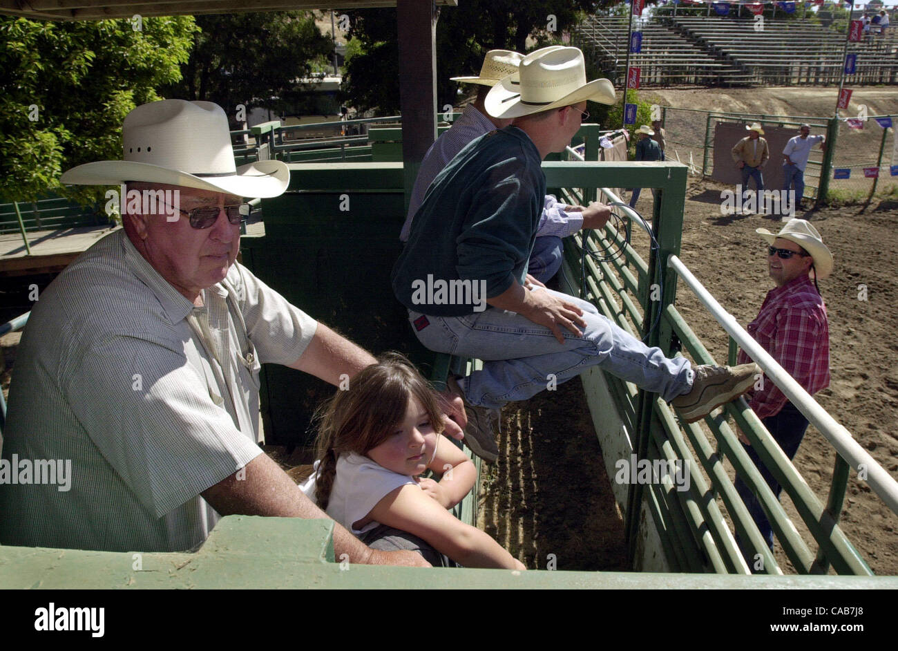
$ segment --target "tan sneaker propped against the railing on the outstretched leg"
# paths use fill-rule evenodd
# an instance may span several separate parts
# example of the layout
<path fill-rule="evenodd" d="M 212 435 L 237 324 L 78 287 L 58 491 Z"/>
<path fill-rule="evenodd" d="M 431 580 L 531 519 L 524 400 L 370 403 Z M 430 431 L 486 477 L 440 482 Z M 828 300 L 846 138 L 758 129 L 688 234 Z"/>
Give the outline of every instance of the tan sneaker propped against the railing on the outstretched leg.
<path fill-rule="evenodd" d="M 696 366 L 692 390 L 671 401 L 680 412 L 680 418 L 694 423 L 705 418 L 713 409 L 735 400 L 752 388 L 755 379 L 762 374 L 761 366 L 743 364 L 739 366 Z"/>

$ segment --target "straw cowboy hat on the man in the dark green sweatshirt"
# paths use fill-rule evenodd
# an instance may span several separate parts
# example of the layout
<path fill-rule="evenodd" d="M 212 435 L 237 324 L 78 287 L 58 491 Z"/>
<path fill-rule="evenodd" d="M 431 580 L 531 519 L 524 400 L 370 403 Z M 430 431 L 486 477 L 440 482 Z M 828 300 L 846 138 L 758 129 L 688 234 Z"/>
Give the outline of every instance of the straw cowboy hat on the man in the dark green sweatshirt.
<path fill-rule="evenodd" d="M 587 83 L 583 52 L 553 46 L 524 57 L 515 75 L 493 86 L 484 106 L 493 118 L 508 119 L 585 100 L 613 104 L 614 86 L 607 79 Z"/>

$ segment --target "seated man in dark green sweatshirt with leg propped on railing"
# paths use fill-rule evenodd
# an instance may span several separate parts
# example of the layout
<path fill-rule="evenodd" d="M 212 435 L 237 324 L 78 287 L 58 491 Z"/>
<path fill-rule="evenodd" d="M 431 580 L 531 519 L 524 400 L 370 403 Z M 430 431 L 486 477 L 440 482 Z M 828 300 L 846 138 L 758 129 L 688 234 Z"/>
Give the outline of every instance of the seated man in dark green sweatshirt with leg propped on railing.
<path fill-rule="evenodd" d="M 519 73 L 496 84 L 485 103 L 490 115 L 515 119 L 514 126 L 480 137 L 440 174 L 393 268 L 393 292 L 421 343 L 485 360 L 482 370 L 453 383 L 469 410 L 466 440 L 488 460 L 497 455 L 491 425 L 497 409 L 546 389 L 550 378 L 565 382 L 600 365 L 674 400 L 682 418 L 697 420 L 747 390 L 756 372 L 755 365 L 734 373 L 668 359 L 592 304 L 527 274 L 546 187 L 541 161 L 568 145 L 587 100 L 612 104 L 614 88 L 607 79 L 586 82 L 579 49 L 524 57 Z M 431 286 L 480 287 L 485 304 L 425 292 L 425 278 Z"/>

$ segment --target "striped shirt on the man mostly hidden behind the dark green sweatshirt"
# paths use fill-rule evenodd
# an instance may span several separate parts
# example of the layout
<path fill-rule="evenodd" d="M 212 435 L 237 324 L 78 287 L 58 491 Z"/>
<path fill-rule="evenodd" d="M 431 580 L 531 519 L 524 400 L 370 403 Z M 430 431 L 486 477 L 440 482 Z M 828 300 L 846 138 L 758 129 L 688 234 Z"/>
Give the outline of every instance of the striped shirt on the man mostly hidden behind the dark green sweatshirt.
<path fill-rule="evenodd" d="M 468 104 L 453 126 L 436 138 L 433 145 L 430 145 L 418 170 L 415 186 L 411 190 L 409 214 L 405 218 L 405 224 L 402 224 L 400 233 L 402 242 L 409 241 L 412 219 L 418 212 L 418 208 L 424 203 L 427 189 L 436 179 L 436 175 L 443 171 L 445 166 L 464 149 L 465 145 L 495 128 L 496 126 L 489 121 L 487 116 L 475 109 L 473 104 Z M 583 216 L 577 210 L 568 212 L 564 210 L 564 207 L 565 204 L 560 203 L 552 195 L 546 196 L 540 224 L 536 231 L 537 237 L 548 235 L 567 237 L 583 228 Z"/>

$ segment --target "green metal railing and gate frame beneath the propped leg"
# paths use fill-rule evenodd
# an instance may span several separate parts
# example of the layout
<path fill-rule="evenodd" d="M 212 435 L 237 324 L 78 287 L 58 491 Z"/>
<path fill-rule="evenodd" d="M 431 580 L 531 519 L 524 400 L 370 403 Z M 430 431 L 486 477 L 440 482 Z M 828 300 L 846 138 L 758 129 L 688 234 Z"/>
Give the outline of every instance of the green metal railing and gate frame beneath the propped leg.
<path fill-rule="evenodd" d="M 559 168 L 553 168 L 553 164 L 558 164 Z M 577 166 L 571 167 L 573 164 Z M 568 188 L 601 188 L 602 180 L 611 178 L 603 170 L 603 163 L 546 163 L 544 169 L 550 186 L 566 182 Z M 594 303 L 621 328 L 641 335 L 648 345 L 659 346 L 668 355 L 676 354 L 682 345 L 696 363 L 715 364 L 713 356 L 674 306 L 677 273 L 680 272 L 669 269 L 668 261 L 677 260 L 675 256 L 680 249 L 685 174 L 686 168 L 670 162 L 629 163 L 626 169 L 615 170 L 615 185 L 660 189 L 652 222 L 659 251 L 650 260 L 644 260 L 626 241 L 626 233 L 619 233 L 608 225 L 602 233 L 590 232 L 585 237 L 577 234 L 568 239 L 566 268 L 570 277 L 584 278 L 583 286 L 579 288 L 581 297 Z M 604 193 L 606 197 L 611 194 L 609 190 Z M 622 209 L 629 213 L 629 208 Z M 584 259 L 584 246 L 597 255 L 618 246 L 622 255 L 616 260 Z M 661 288 L 661 300 L 652 300 L 653 286 Z M 657 327 L 650 330 L 650 324 L 656 319 Z M 637 458 L 688 463 L 691 478 L 694 478 L 686 490 L 675 490 L 669 481 L 629 486 L 625 519 L 631 559 L 635 555 L 641 515 L 643 509 L 647 509 L 655 519 L 661 544 L 674 571 L 782 573 L 738 497 L 733 481 L 726 474 L 723 465 L 726 458 L 758 495 L 777 539 L 797 572 L 824 573 L 832 565 L 840 574 L 872 574 L 839 528 L 838 515 L 833 515 L 838 514 L 844 497 L 848 477 L 844 463 L 837 462 L 830 495 L 824 506 L 744 399 L 705 419 L 716 441 L 712 444 L 698 423 L 685 427 L 678 425 L 674 412 L 656 395 L 616 378 L 606 377 L 605 381 L 619 408 L 624 427 L 634 437 L 633 452 Z M 812 541 L 805 541 L 789 521 L 779 500 L 744 452 L 725 414 L 735 418 L 762 462 L 792 498 Z M 724 519 L 724 510 L 744 546 L 752 550 L 753 558 L 743 558 Z M 809 543 L 816 546 L 816 553 Z"/>

